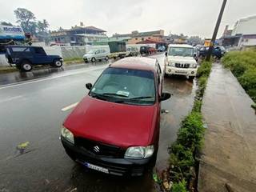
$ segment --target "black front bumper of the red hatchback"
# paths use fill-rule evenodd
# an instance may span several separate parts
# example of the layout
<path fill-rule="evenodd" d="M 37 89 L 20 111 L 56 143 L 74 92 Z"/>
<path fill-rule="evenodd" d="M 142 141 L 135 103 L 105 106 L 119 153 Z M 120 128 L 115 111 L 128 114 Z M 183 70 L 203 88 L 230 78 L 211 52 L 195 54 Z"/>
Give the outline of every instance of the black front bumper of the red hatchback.
<path fill-rule="evenodd" d="M 150 168 L 153 157 L 145 159 L 125 159 L 125 158 L 107 158 L 98 157 L 95 154 L 91 154 L 81 147 L 74 146 L 72 143 L 66 141 L 61 137 L 62 145 L 64 146 L 68 154 L 76 159 L 76 162 L 86 166 L 86 163 L 90 163 L 94 166 L 100 166 L 108 170 L 108 174 L 114 174 L 118 176 L 141 176 L 146 169 Z"/>

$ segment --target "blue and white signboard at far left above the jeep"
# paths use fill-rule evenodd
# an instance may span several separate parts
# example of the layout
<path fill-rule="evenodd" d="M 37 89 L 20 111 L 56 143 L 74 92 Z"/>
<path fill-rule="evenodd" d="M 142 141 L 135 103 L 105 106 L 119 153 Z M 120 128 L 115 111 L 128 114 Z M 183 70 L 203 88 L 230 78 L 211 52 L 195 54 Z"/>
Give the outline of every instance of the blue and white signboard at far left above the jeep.
<path fill-rule="evenodd" d="M 25 34 L 20 26 L 0 25 L 0 39 L 23 40 L 25 39 Z"/>

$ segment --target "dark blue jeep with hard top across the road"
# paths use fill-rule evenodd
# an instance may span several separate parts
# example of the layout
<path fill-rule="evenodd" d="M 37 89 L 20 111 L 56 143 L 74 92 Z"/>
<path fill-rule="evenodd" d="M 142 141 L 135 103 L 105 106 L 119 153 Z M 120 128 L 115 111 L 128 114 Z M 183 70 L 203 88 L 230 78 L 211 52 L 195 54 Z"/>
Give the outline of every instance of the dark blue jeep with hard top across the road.
<path fill-rule="evenodd" d="M 30 71 L 37 65 L 61 67 L 63 62 L 59 55 L 47 55 L 41 46 L 6 46 L 6 58 L 22 71 Z"/>

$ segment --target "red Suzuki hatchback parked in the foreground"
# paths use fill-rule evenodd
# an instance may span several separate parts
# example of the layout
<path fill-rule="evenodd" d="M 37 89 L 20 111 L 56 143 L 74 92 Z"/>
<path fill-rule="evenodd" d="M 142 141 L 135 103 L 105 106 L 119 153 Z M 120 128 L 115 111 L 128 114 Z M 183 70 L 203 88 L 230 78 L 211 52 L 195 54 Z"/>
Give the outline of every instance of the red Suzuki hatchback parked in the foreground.
<path fill-rule="evenodd" d="M 142 175 L 158 153 L 162 73 L 154 58 L 124 58 L 86 84 L 66 118 L 62 145 L 74 161 L 106 174 Z"/>

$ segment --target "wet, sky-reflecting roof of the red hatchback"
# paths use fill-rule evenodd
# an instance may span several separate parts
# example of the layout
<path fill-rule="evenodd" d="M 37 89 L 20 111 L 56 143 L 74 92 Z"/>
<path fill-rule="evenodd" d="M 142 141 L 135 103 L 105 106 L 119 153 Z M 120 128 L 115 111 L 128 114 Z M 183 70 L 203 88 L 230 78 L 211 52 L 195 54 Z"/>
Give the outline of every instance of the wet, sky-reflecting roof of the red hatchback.
<path fill-rule="evenodd" d="M 122 58 L 117 62 L 114 62 L 110 67 L 115 68 L 126 68 L 133 70 L 150 70 L 155 71 L 155 63 L 157 59 L 155 58 L 142 58 L 142 57 L 130 57 Z"/>

